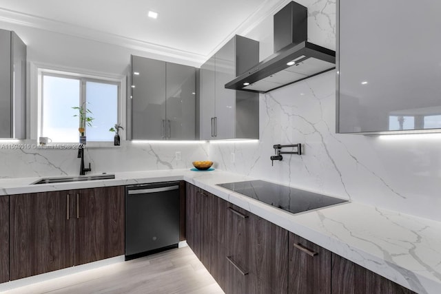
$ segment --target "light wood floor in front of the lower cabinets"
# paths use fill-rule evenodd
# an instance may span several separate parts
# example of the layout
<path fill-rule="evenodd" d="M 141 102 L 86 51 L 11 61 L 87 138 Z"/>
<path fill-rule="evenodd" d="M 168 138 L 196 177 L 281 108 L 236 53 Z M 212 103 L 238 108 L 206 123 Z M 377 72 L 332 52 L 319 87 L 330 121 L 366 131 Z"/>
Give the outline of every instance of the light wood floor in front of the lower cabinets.
<path fill-rule="evenodd" d="M 192 250 L 183 247 L 15 288 L 8 293 L 220 294 L 223 291 Z"/>

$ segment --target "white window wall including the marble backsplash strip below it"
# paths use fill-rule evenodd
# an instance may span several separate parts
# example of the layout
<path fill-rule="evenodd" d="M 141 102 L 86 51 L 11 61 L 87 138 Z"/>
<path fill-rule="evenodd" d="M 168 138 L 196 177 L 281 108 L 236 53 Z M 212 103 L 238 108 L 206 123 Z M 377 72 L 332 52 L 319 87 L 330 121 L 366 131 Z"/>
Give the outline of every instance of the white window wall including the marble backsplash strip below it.
<path fill-rule="evenodd" d="M 129 74 L 130 54 L 195 65 L 193 61 L 178 59 L 171 54 L 164 56 L 68 34 L 49 32 L 28 25 L 0 21 L 0 28 L 17 32 L 28 45 L 28 63 L 37 65 L 50 65 L 105 76 L 126 76 Z M 30 78 L 30 81 L 35 82 L 36 80 Z M 28 85 L 30 81 L 28 81 Z M 34 93 L 31 95 L 32 91 Z M 31 87 L 28 87 L 28 105 L 35 102 L 30 101 L 31 97 L 32 99 L 37 98 L 35 91 L 37 91 L 37 87 L 31 83 Z M 31 124 L 29 123 L 31 111 L 28 109 L 28 129 Z M 123 126 L 126 127 L 125 123 Z M 21 149 L 10 149 L 17 143 L 25 145 Z M 80 160 L 76 158 L 77 150 L 40 150 L 32 148 L 34 143 L 36 143 L 35 140 L 21 140 L 19 142 L 0 140 L 0 178 L 79 174 Z M 28 148 L 28 145 L 31 147 Z M 176 151 L 181 152 L 182 160 L 175 160 Z M 85 152 L 86 164 L 92 162 L 92 174 L 191 168 L 192 161 L 206 160 L 207 158 L 207 143 L 205 142 L 132 143 L 124 141 L 120 148 L 87 148 Z"/>

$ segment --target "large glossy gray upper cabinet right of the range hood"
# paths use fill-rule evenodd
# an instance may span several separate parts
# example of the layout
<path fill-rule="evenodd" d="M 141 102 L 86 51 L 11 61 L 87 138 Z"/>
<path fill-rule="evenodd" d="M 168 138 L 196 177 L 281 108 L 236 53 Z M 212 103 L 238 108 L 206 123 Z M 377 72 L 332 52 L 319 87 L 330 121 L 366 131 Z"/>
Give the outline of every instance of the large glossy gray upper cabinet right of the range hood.
<path fill-rule="evenodd" d="M 441 131 L 440 10 L 441 1 L 339 1 L 338 133 Z"/>

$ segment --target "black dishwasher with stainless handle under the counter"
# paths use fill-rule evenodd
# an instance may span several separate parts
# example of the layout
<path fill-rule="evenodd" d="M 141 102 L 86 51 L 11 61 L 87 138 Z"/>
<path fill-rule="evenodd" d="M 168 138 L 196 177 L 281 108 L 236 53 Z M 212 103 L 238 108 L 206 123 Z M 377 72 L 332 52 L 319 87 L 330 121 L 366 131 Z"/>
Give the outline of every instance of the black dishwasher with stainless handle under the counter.
<path fill-rule="evenodd" d="M 127 186 L 125 260 L 176 248 L 179 242 L 179 182 Z"/>

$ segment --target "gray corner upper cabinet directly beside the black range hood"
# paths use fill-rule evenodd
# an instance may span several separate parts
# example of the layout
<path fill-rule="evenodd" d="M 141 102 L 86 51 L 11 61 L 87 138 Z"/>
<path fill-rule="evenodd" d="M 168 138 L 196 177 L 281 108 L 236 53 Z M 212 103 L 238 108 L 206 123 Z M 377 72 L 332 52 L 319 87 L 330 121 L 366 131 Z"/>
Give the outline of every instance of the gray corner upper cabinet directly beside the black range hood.
<path fill-rule="evenodd" d="M 258 56 L 258 41 L 236 35 L 201 66 L 201 139 L 258 138 L 258 94 L 225 89 Z"/>

